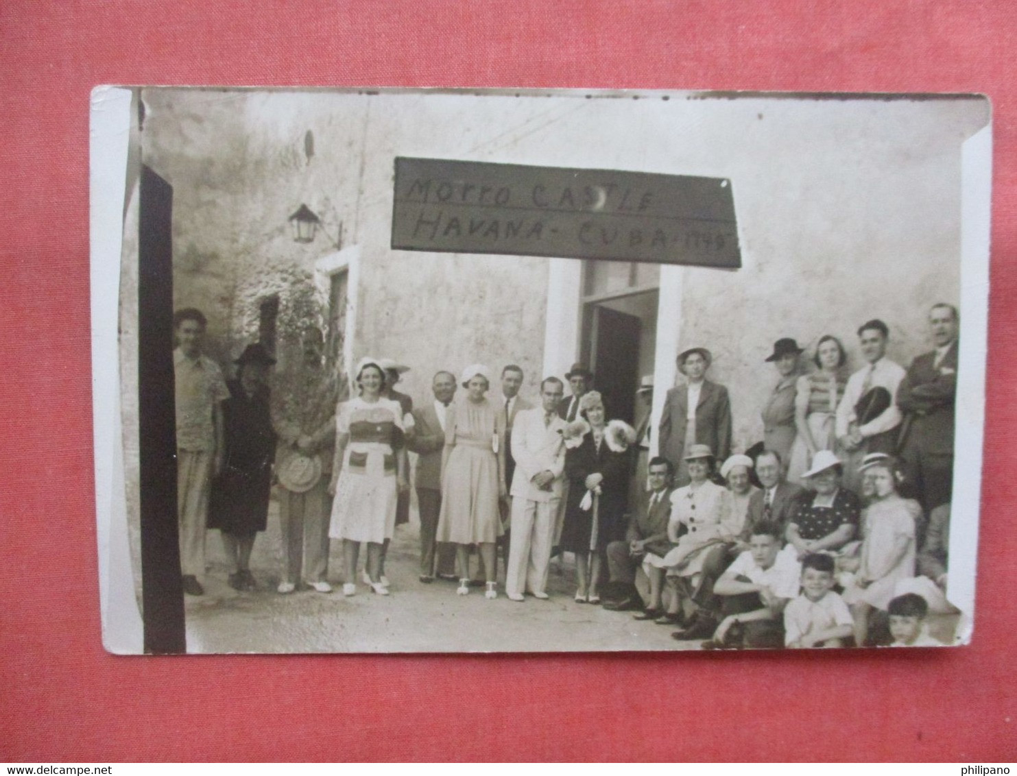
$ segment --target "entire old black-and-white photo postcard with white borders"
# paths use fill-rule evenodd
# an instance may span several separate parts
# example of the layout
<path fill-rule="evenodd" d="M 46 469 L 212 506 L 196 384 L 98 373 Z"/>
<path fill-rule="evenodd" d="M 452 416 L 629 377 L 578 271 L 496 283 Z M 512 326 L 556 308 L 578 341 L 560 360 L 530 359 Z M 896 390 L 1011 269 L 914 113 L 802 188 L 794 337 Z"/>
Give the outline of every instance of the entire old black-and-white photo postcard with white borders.
<path fill-rule="evenodd" d="M 977 95 L 97 87 L 106 648 L 969 643 L 991 158 Z"/>

